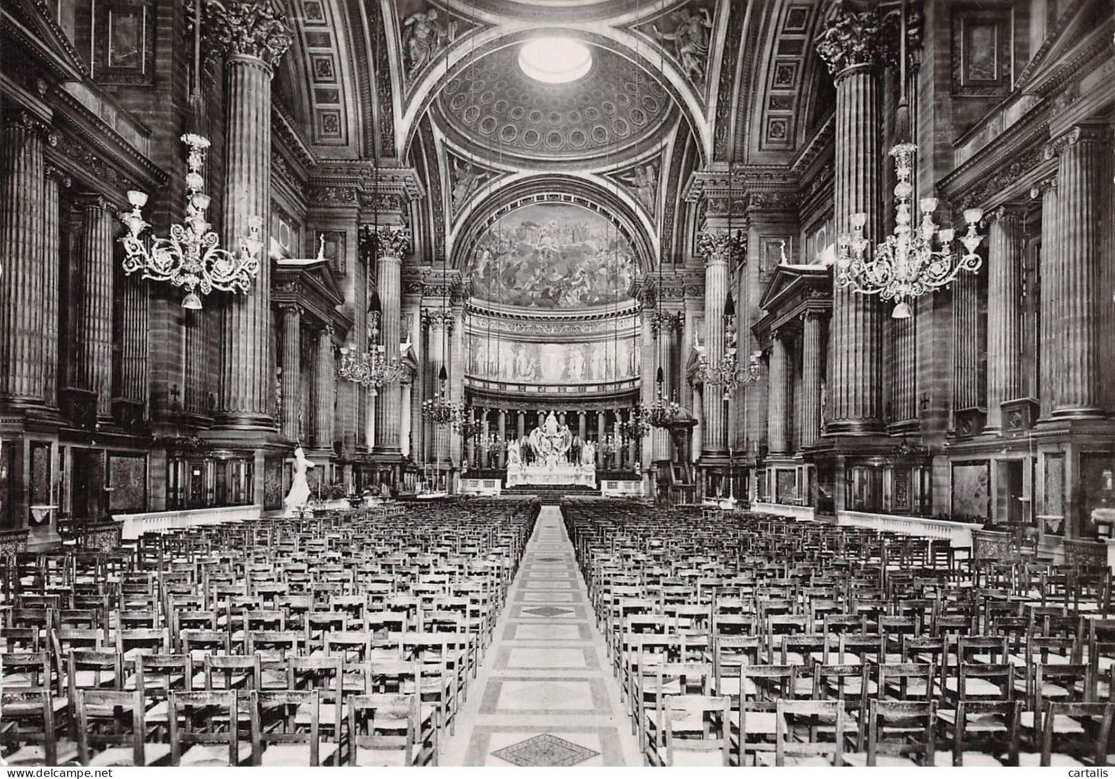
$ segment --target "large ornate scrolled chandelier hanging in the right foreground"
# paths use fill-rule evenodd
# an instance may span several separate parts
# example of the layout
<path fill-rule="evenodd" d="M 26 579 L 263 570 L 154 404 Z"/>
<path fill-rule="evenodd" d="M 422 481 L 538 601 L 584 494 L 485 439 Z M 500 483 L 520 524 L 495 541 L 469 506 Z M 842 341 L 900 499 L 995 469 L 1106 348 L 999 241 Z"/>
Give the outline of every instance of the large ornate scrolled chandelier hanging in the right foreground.
<path fill-rule="evenodd" d="M 966 254 L 953 264 L 952 241 L 956 232 L 941 228 L 933 222 L 937 210 L 935 197 L 923 197 L 918 202 L 921 224 L 911 226 L 910 203 L 913 186 L 910 176 L 913 157 L 918 147 L 899 144 L 891 149 L 898 184 L 894 185 L 894 234 L 869 252 L 869 241 L 863 236 L 867 222 L 864 213 L 852 214 L 852 234 L 837 238 L 836 281 L 841 286 L 850 286 L 863 294 L 878 294 L 882 300 L 893 300 L 894 319 L 912 315 L 909 301 L 925 292 L 947 286 L 956 280 L 961 270 L 975 273 L 982 261 L 976 249 L 982 235 L 977 234 L 976 224 L 983 216 L 980 208 L 966 208 L 964 222 L 968 232 L 961 236 Z M 933 249 L 937 237 L 940 249 Z"/>

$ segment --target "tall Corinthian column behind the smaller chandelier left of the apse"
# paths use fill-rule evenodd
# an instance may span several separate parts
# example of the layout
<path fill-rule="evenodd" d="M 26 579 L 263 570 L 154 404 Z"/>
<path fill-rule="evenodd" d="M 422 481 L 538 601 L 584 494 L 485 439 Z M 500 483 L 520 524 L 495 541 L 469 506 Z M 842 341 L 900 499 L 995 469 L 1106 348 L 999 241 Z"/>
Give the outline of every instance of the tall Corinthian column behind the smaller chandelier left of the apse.
<path fill-rule="evenodd" d="M 410 236 L 404 230 L 379 227 L 375 236 L 376 246 L 376 292 L 379 294 L 380 324 L 384 338 L 384 356 L 390 362 L 399 359 L 399 306 L 401 289 L 399 271 L 403 253 L 409 245 Z M 376 454 L 401 454 L 399 448 L 401 397 L 398 384 L 388 384 L 379 390 L 376 398 Z"/>

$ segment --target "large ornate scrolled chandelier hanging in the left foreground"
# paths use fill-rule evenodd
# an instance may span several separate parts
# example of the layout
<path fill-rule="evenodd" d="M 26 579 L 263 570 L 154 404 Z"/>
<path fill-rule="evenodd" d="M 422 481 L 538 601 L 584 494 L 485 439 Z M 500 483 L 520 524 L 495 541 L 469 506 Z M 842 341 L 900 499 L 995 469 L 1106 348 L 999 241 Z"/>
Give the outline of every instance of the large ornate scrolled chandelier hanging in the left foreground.
<path fill-rule="evenodd" d="M 200 295 L 207 295 L 213 290 L 248 292 L 260 271 L 259 255 L 263 246 L 260 230 L 263 227 L 263 220 L 259 216 L 248 218 L 249 235 L 240 240 L 240 249 L 235 254 L 219 249 L 217 235 L 210 230 L 212 225 L 205 218 L 210 197 L 202 193 L 205 179 L 202 178 L 201 171 L 205 162 L 205 149 L 210 147 L 209 138 L 187 133 L 182 136 L 182 142 L 190 147 L 186 156 L 190 171 L 186 174 L 185 224 L 171 225 L 171 237 L 153 238 L 148 250 L 139 240 L 139 234 L 151 226 L 144 221 L 142 213 L 147 204 L 147 195 L 133 189 L 128 192 L 132 211 L 120 216 L 128 228 L 128 234 L 120 242 L 127 253 L 124 259 L 125 273 L 139 271 L 144 279 L 168 281 L 174 286 L 181 286 L 186 292 L 182 306 L 200 310 Z"/>

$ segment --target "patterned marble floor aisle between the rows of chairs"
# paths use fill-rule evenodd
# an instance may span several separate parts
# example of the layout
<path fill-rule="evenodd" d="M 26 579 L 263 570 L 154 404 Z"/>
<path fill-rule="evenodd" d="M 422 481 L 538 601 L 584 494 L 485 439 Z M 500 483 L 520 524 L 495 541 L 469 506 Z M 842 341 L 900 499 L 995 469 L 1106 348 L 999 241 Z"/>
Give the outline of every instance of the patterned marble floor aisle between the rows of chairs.
<path fill-rule="evenodd" d="M 543 506 L 443 766 L 641 766 L 556 506 Z"/>

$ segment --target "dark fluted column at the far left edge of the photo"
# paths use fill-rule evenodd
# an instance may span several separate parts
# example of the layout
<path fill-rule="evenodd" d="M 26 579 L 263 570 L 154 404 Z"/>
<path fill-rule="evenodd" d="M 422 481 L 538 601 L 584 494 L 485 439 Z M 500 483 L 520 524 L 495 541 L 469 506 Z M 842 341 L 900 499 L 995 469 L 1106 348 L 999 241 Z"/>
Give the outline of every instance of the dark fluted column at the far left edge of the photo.
<path fill-rule="evenodd" d="M 48 128 L 28 114 L 6 117 L 0 183 L 0 395 L 41 405 L 43 199 Z"/>

